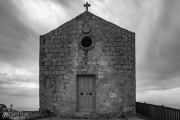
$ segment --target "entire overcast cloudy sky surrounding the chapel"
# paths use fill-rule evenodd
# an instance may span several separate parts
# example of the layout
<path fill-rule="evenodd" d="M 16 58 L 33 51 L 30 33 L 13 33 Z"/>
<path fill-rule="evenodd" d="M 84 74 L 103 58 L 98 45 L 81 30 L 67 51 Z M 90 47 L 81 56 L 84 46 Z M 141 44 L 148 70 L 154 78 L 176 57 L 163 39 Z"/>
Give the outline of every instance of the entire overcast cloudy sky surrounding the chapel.
<path fill-rule="evenodd" d="M 136 100 L 180 108 L 180 0 L 0 0 L 0 103 L 38 110 L 39 36 L 84 12 L 86 1 L 136 33 Z"/>

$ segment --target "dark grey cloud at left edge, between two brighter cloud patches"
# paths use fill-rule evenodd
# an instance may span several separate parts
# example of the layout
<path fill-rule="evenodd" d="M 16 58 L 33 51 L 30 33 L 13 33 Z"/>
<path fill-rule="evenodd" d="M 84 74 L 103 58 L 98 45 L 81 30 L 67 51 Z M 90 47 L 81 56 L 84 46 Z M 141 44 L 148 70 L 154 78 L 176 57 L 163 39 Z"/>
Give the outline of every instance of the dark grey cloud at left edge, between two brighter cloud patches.
<path fill-rule="evenodd" d="M 0 62 L 27 68 L 38 60 L 38 36 L 21 22 L 23 17 L 11 1 L 0 1 Z"/>

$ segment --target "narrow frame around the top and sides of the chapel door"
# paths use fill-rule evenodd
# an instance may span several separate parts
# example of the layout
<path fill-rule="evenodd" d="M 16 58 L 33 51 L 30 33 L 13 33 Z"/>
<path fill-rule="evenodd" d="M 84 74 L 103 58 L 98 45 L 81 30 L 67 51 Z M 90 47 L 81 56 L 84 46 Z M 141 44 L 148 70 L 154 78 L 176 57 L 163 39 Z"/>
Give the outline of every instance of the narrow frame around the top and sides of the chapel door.
<path fill-rule="evenodd" d="M 94 112 L 96 112 L 96 75 L 95 74 L 77 74 L 76 75 L 76 112 L 78 112 L 78 76 L 94 76 Z"/>

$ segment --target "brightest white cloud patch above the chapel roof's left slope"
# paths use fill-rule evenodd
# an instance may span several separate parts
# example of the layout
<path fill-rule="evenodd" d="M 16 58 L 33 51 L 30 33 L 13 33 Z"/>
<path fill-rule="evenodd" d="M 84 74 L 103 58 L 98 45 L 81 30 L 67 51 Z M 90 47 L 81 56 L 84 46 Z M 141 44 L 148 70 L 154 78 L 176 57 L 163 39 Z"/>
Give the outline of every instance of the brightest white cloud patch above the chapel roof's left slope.
<path fill-rule="evenodd" d="M 13 0 L 12 3 L 21 13 L 19 20 L 37 33 L 38 37 L 67 20 L 66 11 L 54 0 Z"/>

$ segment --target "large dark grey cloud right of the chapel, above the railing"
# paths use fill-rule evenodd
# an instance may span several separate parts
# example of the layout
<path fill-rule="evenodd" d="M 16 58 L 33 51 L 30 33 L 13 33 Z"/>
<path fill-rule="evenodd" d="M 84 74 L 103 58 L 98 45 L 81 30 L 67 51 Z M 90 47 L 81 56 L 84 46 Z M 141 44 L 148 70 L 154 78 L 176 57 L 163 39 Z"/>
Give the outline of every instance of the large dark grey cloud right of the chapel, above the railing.
<path fill-rule="evenodd" d="M 146 71 L 141 72 L 145 86 L 170 89 L 180 86 L 180 1 L 165 0 L 160 7 L 140 69 Z"/>

